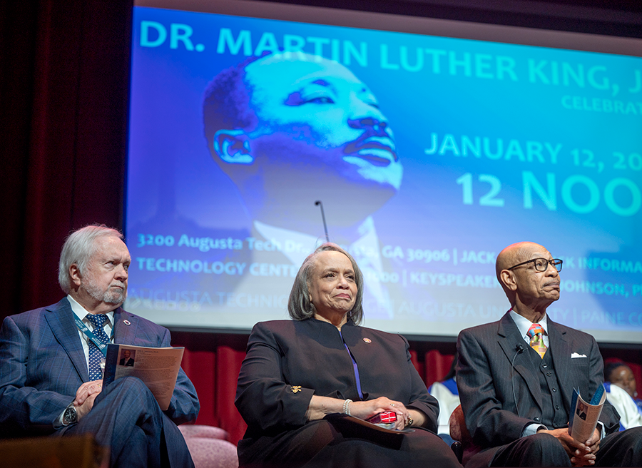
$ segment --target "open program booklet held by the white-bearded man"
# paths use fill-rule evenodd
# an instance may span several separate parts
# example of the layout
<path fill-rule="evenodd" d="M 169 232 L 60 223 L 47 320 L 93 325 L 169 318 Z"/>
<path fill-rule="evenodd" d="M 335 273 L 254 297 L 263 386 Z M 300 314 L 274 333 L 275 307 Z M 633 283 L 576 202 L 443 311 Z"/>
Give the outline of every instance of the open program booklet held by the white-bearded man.
<path fill-rule="evenodd" d="M 107 345 L 103 385 L 121 377 L 138 377 L 163 411 L 168 409 L 184 347 Z"/>

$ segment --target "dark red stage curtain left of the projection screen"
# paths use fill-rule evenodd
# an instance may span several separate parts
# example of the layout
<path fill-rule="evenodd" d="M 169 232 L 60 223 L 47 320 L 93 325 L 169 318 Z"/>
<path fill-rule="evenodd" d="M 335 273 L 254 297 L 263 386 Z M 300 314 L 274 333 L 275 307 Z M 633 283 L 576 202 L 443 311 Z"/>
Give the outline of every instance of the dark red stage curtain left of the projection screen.
<path fill-rule="evenodd" d="M 0 315 L 56 302 L 64 238 L 122 226 L 131 0 L 0 1 Z"/>

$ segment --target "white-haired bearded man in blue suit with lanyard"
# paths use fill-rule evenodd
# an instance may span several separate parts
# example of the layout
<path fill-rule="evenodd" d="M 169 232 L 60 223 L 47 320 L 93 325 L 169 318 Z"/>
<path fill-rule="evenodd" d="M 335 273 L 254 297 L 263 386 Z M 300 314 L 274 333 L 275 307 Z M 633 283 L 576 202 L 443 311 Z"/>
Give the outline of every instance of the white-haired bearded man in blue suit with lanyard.
<path fill-rule="evenodd" d="M 176 424 L 196 419 L 192 382 L 178 373 L 161 411 L 136 377 L 103 387 L 108 343 L 170 346 L 170 332 L 121 308 L 131 263 L 123 235 L 104 225 L 71 233 L 60 257 L 60 302 L 4 319 L 0 328 L 0 436 L 93 434 L 111 467 L 193 467 Z"/>

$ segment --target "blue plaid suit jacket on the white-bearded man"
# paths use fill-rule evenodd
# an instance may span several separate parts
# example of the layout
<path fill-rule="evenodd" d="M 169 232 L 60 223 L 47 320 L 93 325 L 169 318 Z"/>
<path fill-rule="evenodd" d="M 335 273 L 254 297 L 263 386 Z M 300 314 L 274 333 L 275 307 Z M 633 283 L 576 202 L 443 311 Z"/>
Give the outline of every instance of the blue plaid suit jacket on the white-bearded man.
<path fill-rule="evenodd" d="M 166 328 L 120 307 L 113 317 L 116 343 L 170 346 Z M 88 380 L 66 297 L 55 305 L 6 317 L 0 329 L 0 437 L 54 432 L 54 419 Z M 196 390 L 181 369 L 165 414 L 181 424 L 195 419 L 199 408 Z"/>

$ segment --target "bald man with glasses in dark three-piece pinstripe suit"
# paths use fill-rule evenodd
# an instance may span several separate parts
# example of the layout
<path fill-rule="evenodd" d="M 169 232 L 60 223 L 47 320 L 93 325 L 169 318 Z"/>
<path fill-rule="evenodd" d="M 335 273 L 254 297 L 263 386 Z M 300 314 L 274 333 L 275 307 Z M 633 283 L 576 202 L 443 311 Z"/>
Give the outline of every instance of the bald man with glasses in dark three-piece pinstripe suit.
<path fill-rule="evenodd" d="M 642 466 L 642 428 L 617 432 L 619 415 L 608 402 L 588 440 L 569 434 L 573 390 L 591 397 L 603 363 L 591 335 L 546 316 L 559 299 L 560 270 L 561 260 L 541 245 L 509 245 L 496 274 L 511 309 L 459 334 L 457 387 L 481 449 L 467 468 Z"/>

